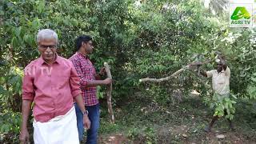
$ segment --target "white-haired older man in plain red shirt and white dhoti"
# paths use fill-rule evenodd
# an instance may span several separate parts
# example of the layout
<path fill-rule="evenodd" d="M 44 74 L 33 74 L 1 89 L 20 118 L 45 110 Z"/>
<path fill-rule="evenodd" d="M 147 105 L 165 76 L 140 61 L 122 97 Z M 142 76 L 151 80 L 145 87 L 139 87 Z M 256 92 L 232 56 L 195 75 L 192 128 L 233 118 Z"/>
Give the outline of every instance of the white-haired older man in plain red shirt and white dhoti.
<path fill-rule="evenodd" d="M 22 127 L 20 140 L 29 140 L 27 121 L 34 102 L 34 143 L 79 143 L 73 99 L 83 114 L 83 125 L 90 120 L 83 105 L 78 74 L 70 60 L 56 53 L 58 35 L 40 30 L 37 36 L 41 57 L 25 68 L 22 83 Z"/>

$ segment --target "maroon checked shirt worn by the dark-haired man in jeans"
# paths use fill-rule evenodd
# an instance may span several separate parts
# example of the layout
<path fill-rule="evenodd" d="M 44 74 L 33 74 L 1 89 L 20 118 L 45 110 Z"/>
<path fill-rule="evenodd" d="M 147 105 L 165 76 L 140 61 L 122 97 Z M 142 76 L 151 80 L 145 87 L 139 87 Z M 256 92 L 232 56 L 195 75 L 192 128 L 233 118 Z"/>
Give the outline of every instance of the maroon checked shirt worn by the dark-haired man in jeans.
<path fill-rule="evenodd" d="M 94 106 L 98 104 L 98 98 L 96 97 L 97 88 L 85 87 L 86 82 L 94 81 L 96 70 L 93 64 L 90 62 L 90 59 L 80 53 L 74 54 L 70 57 L 70 61 L 74 64 L 74 68 L 78 72 L 78 77 L 80 79 L 80 86 L 82 90 L 82 96 L 86 106 Z"/>

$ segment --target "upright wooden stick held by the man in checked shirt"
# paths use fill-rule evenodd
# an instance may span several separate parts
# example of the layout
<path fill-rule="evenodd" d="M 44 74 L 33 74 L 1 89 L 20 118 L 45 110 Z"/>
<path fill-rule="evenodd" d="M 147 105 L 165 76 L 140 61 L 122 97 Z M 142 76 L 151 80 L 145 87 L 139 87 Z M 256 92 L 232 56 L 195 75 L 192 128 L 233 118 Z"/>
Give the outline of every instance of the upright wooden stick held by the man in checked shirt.
<path fill-rule="evenodd" d="M 112 75 L 111 75 L 111 72 L 110 72 L 110 66 L 108 65 L 107 62 L 104 62 L 104 66 L 105 66 L 107 78 L 112 79 Z M 114 112 L 113 112 L 113 109 L 112 109 L 111 94 L 112 94 L 112 83 L 107 86 L 106 102 L 107 102 L 107 109 L 108 109 L 108 112 L 110 114 L 110 122 L 114 123 Z"/>

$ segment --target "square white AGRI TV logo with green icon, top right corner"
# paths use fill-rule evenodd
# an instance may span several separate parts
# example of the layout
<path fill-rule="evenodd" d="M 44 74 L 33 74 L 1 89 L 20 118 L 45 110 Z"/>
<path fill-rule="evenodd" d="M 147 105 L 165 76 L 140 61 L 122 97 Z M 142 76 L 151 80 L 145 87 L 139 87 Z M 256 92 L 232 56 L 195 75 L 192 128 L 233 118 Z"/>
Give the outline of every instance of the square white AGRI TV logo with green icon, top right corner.
<path fill-rule="evenodd" d="M 253 5 L 230 4 L 230 27 L 253 26 Z"/>

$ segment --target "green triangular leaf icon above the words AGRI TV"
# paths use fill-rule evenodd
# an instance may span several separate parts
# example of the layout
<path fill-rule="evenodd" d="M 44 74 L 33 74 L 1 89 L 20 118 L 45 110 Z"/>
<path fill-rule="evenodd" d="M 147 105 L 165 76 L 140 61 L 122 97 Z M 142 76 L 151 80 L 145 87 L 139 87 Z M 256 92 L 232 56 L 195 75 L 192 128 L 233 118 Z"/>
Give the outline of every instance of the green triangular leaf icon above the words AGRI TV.
<path fill-rule="evenodd" d="M 250 14 L 246 10 L 246 7 L 237 7 L 234 10 L 234 13 L 231 15 L 232 20 L 238 20 L 241 18 L 250 19 Z"/>

